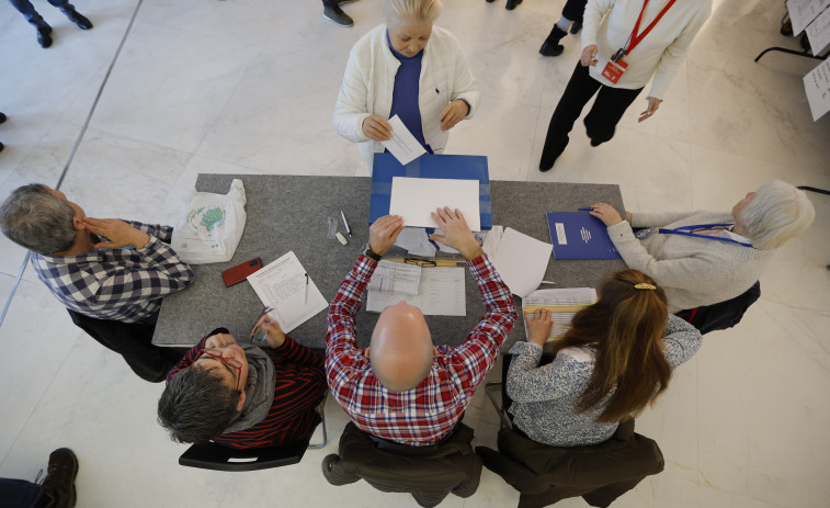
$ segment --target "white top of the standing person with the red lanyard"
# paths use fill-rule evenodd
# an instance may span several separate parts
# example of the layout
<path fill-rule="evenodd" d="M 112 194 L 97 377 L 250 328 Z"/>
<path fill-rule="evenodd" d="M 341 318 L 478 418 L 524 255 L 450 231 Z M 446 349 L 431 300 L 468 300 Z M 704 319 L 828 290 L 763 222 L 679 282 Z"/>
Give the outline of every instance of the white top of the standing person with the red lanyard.
<path fill-rule="evenodd" d="M 640 21 L 640 34 L 657 18 L 669 0 L 651 0 Z M 582 49 L 595 44 L 596 66 L 589 72 L 596 81 L 607 87 L 637 89 L 645 87 L 651 76 L 651 91 L 647 97 L 663 99 L 689 47 L 703 23 L 712 13 L 712 0 L 678 0 L 646 37 L 624 60 L 628 68 L 616 84 L 602 77 L 609 59 L 625 46 L 637 23 L 643 0 L 589 0 L 582 23 Z M 600 20 L 607 16 L 600 24 Z"/>

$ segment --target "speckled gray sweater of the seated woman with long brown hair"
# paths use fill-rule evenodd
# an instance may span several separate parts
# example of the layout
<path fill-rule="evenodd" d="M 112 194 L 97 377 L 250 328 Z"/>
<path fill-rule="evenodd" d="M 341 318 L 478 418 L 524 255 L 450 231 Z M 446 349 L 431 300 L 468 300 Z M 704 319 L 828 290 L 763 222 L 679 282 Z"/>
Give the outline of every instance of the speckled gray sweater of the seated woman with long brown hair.
<path fill-rule="evenodd" d="M 701 332 L 676 316 L 669 316 L 663 352 L 672 369 L 685 362 L 701 347 Z M 542 348 L 516 342 L 508 372 L 508 395 L 513 399 L 513 425 L 536 442 L 552 447 L 595 444 L 607 440 L 617 424 L 598 424 L 604 405 L 576 413 L 579 397 L 591 380 L 592 349 L 567 348 L 553 363 L 538 366 Z"/>

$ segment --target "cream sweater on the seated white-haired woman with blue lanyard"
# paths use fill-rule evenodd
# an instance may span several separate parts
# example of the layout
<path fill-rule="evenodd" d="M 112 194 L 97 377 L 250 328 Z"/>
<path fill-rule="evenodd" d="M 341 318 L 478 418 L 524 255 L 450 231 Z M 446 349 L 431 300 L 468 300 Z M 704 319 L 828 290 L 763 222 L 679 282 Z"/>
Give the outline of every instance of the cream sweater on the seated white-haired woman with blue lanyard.
<path fill-rule="evenodd" d="M 623 221 L 607 230 L 628 268 L 650 275 L 663 287 L 669 313 L 674 314 L 725 302 L 746 292 L 759 280 L 773 251 L 684 235 L 661 235 L 656 229 L 637 239 L 632 226 L 676 228 L 734 221 L 725 212 L 636 213 L 632 214 L 633 224 Z"/>

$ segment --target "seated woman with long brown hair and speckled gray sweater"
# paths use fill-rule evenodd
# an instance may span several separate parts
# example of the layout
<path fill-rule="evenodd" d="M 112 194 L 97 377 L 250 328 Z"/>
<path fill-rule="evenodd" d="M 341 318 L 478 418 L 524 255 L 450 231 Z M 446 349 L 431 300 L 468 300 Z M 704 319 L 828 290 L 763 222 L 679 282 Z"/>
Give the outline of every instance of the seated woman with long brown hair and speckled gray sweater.
<path fill-rule="evenodd" d="M 670 316 L 666 293 L 648 275 L 625 270 L 598 287 L 539 366 L 550 313 L 525 315 L 527 342 L 510 350 L 507 391 L 514 426 L 534 441 L 573 447 L 607 440 L 619 420 L 641 411 L 669 386 L 671 370 L 701 347 L 701 334 Z"/>

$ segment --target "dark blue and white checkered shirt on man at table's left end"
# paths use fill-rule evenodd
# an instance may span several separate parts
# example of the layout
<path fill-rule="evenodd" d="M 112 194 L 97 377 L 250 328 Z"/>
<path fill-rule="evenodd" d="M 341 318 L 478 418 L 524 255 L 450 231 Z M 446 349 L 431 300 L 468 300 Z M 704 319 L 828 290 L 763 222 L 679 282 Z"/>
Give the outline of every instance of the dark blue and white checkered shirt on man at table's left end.
<path fill-rule="evenodd" d="M 171 226 L 125 221 L 150 236 L 141 249 L 102 249 L 77 256 L 32 253 L 32 267 L 70 311 L 124 323 L 152 320 L 161 297 L 193 282 L 193 270 L 166 242 Z"/>

